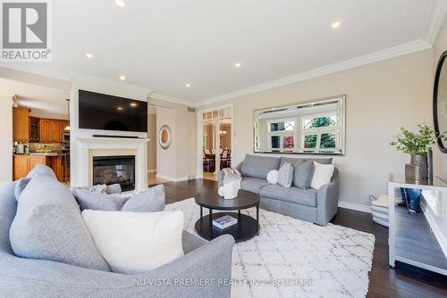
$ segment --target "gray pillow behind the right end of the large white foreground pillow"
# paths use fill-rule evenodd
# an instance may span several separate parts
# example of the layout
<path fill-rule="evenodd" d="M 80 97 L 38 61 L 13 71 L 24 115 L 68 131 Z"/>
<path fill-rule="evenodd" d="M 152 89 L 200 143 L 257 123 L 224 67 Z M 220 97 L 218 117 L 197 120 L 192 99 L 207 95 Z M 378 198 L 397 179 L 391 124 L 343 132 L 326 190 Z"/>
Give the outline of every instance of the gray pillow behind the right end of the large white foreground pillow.
<path fill-rule="evenodd" d="M 164 186 L 154 186 L 131 196 L 122 206 L 122 211 L 164 211 Z"/>

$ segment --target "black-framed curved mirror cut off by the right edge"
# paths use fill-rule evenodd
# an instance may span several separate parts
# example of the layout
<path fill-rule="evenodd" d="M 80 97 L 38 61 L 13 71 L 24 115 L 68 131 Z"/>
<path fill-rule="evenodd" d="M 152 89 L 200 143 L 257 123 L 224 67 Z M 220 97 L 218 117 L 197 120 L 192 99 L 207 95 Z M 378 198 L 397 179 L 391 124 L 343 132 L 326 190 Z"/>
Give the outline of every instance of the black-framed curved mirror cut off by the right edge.
<path fill-rule="evenodd" d="M 439 58 L 434 77 L 433 119 L 434 132 L 443 134 L 447 131 L 447 51 Z M 447 142 L 438 138 L 439 149 L 447 153 Z"/>

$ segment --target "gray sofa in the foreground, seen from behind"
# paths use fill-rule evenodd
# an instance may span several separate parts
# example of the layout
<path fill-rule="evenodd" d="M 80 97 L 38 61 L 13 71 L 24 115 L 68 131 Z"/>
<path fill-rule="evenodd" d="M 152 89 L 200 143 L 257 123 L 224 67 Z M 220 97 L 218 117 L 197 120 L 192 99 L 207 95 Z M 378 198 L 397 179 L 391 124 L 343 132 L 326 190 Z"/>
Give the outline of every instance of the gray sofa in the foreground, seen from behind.
<path fill-rule="evenodd" d="M 231 277 L 232 236 L 205 243 L 184 232 L 183 257 L 140 275 L 15 256 L 9 235 L 17 209 L 15 184 L 0 184 L 1 297 L 230 297 L 231 287 L 219 280 Z M 215 285 L 191 286 L 200 278 Z"/>

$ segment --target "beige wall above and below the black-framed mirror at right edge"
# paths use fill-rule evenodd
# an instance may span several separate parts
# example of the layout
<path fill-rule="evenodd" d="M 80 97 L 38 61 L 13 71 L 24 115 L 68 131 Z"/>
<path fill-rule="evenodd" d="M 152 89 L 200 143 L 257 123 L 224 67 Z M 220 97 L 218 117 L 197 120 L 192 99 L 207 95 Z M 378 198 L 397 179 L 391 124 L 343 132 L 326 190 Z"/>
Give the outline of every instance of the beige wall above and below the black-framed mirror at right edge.
<path fill-rule="evenodd" d="M 433 79 L 439 57 L 441 56 L 441 54 L 443 54 L 444 51 L 447 51 L 447 19 L 444 20 L 443 28 L 439 32 L 438 38 L 434 43 L 434 68 L 432 74 Z M 447 154 L 443 154 L 437 146 L 434 149 L 434 171 L 435 174 L 443 178 L 444 181 L 447 181 Z"/>

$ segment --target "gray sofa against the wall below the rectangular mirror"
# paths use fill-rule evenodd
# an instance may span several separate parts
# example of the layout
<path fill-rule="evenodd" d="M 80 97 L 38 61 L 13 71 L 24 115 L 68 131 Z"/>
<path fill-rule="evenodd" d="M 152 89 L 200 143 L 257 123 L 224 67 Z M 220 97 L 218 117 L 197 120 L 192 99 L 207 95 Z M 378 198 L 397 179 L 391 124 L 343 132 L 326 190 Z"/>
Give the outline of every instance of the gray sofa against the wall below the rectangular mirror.
<path fill-rule="evenodd" d="M 304 159 L 319 163 L 332 163 L 332 158 Z M 338 170 L 333 171 L 331 182 L 318 190 L 301 189 L 295 186 L 289 188 L 271 185 L 266 177 L 270 170 L 279 170 L 284 162 L 293 165 L 298 161 L 291 157 L 274 157 L 250 155 L 236 167 L 242 175 L 240 186 L 244 190 L 260 196 L 259 207 L 267 211 L 285 214 L 296 219 L 303 219 L 320 226 L 325 226 L 337 213 L 339 178 Z M 223 171 L 218 173 L 219 186 L 223 186 Z"/>

